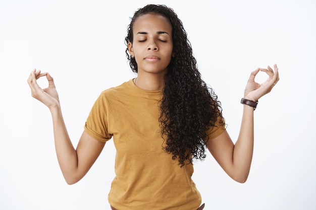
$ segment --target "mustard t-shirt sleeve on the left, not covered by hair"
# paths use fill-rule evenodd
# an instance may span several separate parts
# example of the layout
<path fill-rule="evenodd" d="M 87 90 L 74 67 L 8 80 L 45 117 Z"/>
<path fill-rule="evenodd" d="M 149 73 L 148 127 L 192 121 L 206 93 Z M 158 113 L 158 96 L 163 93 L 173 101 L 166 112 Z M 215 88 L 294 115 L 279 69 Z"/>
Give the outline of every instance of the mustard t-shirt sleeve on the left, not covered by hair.
<path fill-rule="evenodd" d="M 100 142 L 107 142 L 112 134 L 108 132 L 108 103 L 102 92 L 91 108 L 84 130 Z"/>

